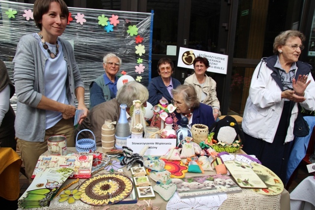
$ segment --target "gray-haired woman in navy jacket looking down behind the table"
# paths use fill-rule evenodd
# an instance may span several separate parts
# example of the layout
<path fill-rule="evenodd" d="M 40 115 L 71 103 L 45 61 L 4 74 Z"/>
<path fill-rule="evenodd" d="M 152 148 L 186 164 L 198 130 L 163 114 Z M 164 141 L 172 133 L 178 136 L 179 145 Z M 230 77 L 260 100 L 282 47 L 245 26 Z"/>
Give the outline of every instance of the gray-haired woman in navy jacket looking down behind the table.
<path fill-rule="evenodd" d="M 172 93 L 172 104 L 177 107 L 175 116 L 178 119 L 178 125 L 181 125 L 183 117 L 188 118 L 189 129 L 194 124 L 204 124 L 210 127 L 215 122 L 212 107 L 199 102 L 196 90 L 192 85 L 177 86 Z"/>

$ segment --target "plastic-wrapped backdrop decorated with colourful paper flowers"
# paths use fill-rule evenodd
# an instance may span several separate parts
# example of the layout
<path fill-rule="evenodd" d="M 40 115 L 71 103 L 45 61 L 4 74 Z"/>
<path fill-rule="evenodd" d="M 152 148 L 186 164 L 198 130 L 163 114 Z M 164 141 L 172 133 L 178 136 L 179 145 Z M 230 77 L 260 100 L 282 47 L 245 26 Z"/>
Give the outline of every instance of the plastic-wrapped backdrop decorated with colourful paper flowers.
<path fill-rule="evenodd" d="M 104 74 L 103 56 L 106 52 L 111 52 L 122 59 L 123 65 L 118 75 L 127 74 L 135 81 L 148 86 L 151 74 L 150 28 L 153 12 L 68 8 L 68 25 L 61 37 L 72 44 L 85 84 L 91 84 L 95 78 Z M 20 38 L 39 32 L 39 29 L 33 20 L 33 4 L 0 0 L 0 10 L 3 13 L 0 18 L 0 59 L 5 62 L 12 79 L 12 60 Z M 85 90 L 85 96 L 85 104 L 89 105 L 89 89 Z M 16 110 L 15 95 L 11 99 L 11 105 Z"/>

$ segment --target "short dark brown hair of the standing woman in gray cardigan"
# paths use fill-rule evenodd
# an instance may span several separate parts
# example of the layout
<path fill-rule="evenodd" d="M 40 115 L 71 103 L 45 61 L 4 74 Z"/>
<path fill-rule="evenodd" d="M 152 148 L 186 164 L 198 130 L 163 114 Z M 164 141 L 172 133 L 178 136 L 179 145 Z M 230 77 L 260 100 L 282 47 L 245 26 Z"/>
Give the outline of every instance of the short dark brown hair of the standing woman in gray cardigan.
<path fill-rule="evenodd" d="M 69 10 L 63 0 L 36 0 L 34 2 L 33 17 L 35 24 L 39 30 L 42 29 L 41 23 L 39 22 L 42 20 L 43 15 L 49 11 L 51 2 L 59 3 L 61 12 L 67 18 L 68 21 Z"/>

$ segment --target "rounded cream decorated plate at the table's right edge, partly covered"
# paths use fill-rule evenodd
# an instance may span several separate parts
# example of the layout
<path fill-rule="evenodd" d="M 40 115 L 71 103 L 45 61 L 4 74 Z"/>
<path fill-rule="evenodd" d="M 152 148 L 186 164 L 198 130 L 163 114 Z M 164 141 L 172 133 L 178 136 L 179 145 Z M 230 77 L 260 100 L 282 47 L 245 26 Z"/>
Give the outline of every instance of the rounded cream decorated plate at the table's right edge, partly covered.
<path fill-rule="evenodd" d="M 263 195 L 279 195 L 284 190 L 284 183 L 282 180 L 267 167 L 252 162 L 252 170 L 258 177 L 267 185 L 267 189 L 251 189 L 254 192 Z"/>

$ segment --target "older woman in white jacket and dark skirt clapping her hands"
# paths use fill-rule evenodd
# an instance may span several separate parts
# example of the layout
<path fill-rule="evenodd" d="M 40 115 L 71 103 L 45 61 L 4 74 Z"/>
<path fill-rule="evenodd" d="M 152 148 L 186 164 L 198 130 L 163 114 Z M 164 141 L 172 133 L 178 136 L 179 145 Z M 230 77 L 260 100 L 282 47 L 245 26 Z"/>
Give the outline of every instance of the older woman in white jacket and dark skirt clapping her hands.
<path fill-rule="evenodd" d="M 315 110 L 315 83 L 311 66 L 299 61 L 305 36 L 297 30 L 280 33 L 274 56 L 257 65 L 243 116 L 243 150 L 285 180 L 287 159 L 294 139 L 298 103 Z"/>

